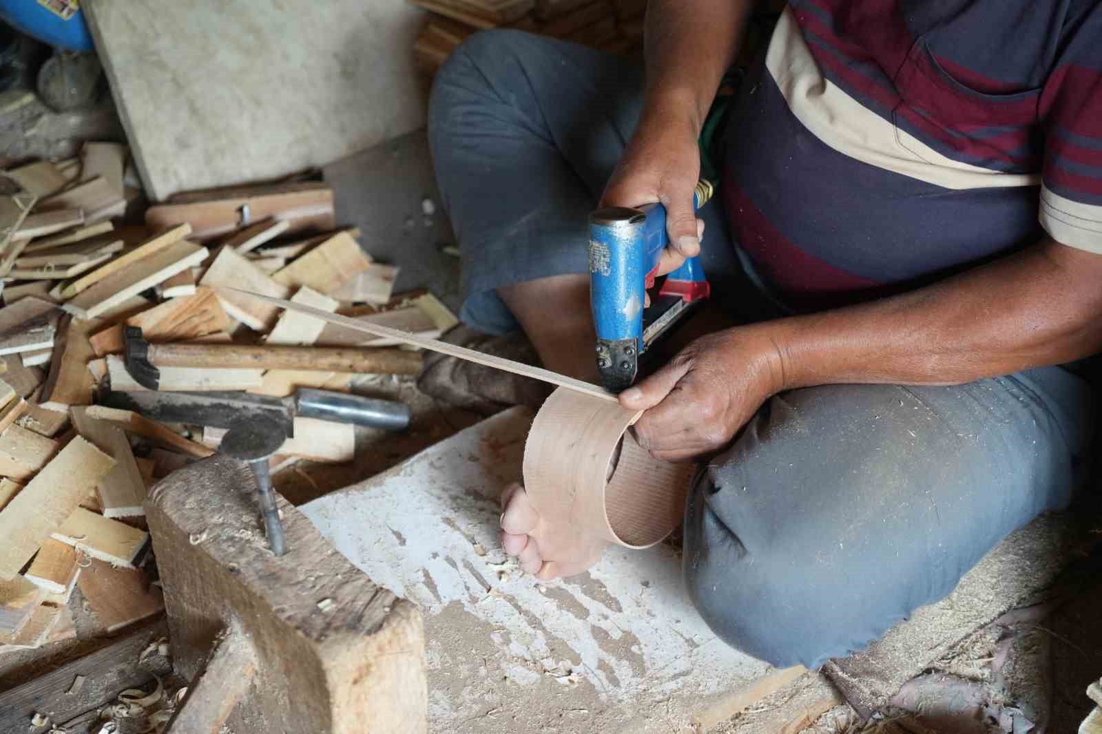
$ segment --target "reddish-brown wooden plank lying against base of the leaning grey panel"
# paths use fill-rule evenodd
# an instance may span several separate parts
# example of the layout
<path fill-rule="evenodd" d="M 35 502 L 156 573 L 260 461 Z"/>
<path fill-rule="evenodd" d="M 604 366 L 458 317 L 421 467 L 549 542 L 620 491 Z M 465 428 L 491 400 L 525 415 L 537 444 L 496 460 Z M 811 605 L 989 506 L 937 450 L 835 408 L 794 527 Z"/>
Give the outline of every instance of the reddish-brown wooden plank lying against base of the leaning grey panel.
<path fill-rule="evenodd" d="M 145 224 L 168 227 L 188 223 L 201 242 L 236 230 L 241 207 L 253 220 L 274 217 L 290 223 L 288 233 L 326 230 L 335 227 L 333 190 L 324 183 L 239 186 L 173 196 L 168 204 L 145 211 Z"/>

